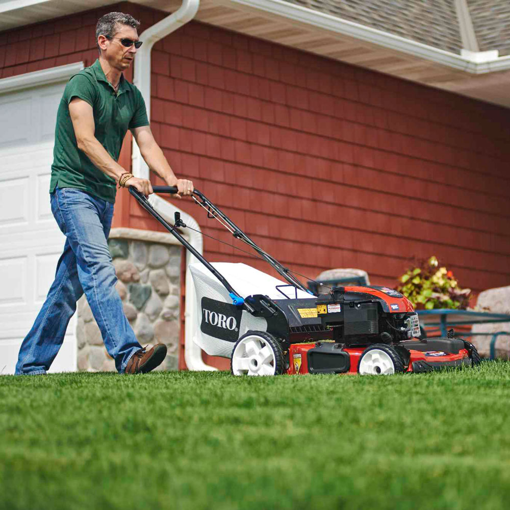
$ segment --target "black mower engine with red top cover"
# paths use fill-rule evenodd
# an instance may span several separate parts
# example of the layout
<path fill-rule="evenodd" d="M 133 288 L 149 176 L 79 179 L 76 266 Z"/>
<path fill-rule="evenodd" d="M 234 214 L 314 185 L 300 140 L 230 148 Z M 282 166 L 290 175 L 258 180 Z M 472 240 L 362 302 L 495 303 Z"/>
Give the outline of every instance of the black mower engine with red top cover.
<path fill-rule="evenodd" d="M 317 317 L 345 345 L 395 343 L 420 336 L 418 314 L 402 294 L 387 287 L 336 287 L 317 298 Z"/>

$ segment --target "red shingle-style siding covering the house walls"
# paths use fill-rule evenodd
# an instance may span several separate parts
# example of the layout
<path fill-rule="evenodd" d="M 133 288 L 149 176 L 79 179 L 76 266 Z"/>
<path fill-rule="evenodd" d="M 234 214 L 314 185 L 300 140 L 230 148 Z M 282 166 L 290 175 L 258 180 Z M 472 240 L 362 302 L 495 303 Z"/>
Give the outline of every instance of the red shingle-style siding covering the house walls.
<path fill-rule="evenodd" d="M 0 77 L 90 65 L 112 10 L 140 32 L 164 16 L 122 3 L 1 33 Z M 198 22 L 155 46 L 152 71 L 152 129 L 175 172 L 292 269 L 359 267 L 392 285 L 437 254 L 464 286 L 510 284 L 507 109 Z M 162 230 L 124 191 L 114 221 Z M 205 254 L 266 269 L 208 238 Z"/>

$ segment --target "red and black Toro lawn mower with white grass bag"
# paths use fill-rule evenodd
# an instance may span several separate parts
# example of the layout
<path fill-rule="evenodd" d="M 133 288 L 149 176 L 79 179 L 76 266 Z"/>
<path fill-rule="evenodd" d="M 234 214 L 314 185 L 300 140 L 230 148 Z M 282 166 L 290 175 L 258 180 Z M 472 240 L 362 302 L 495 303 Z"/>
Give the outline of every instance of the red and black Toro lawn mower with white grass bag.
<path fill-rule="evenodd" d="M 155 193 L 177 191 L 152 188 Z M 208 262 L 183 237 L 181 230 L 191 227 L 180 213 L 171 225 L 143 194 L 133 187 L 130 193 L 199 261 L 189 266 L 200 311 L 194 341 L 210 355 L 230 358 L 234 375 L 379 375 L 480 363 L 473 344 L 455 338 L 453 330 L 447 338 L 420 338 L 413 304 L 389 287 L 312 293 L 295 276 L 299 273 L 260 248 L 197 189 L 191 197 L 207 216 L 252 248 L 255 253 L 249 254 L 269 263 L 285 282 L 246 264 Z"/>

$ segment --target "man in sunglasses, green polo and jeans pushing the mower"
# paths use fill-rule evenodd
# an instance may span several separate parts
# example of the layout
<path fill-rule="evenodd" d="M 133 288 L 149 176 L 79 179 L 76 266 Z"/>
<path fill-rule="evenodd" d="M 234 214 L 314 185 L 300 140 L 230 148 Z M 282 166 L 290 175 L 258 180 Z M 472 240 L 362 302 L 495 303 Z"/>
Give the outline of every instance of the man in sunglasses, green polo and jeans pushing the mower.
<path fill-rule="evenodd" d="M 62 96 L 49 191 L 66 242 L 55 281 L 19 349 L 16 374 L 46 373 L 84 292 L 119 373 L 148 372 L 165 359 L 164 344 L 146 351 L 138 343 L 115 290 L 107 243 L 116 186 L 152 193 L 148 180 L 117 163 L 127 129 L 149 168 L 177 186 L 177 196 L 193 191 L 191 181 L 175 177 L 152 137 L 142 95 L 122 75 L 141 45 L 139 24 L 120 12 L 101 17 L 96 25 L 99 58 L 71 77 Z"/>

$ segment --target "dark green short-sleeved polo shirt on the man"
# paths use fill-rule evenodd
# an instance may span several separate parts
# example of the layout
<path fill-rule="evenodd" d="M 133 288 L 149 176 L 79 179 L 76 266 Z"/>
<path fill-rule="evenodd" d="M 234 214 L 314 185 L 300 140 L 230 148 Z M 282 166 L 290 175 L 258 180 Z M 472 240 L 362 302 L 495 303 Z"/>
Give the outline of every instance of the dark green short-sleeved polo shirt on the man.
<path fill-rule="evenodd" d="M 115 180 L 96 168 L 85 152 L 78 148 L 69 115 L 69 103 L 73 97 L 80 97 L 92 107 L 94 136 L 115 161 L 119 159 L 127 130 L 149 125 L 145 101 L 140 91 L 123 75 L 116 93 L 99 60 L 70 78 L 60 100 L 49 192 L 57 187 L 75 188 L 114 203 Z"/>

